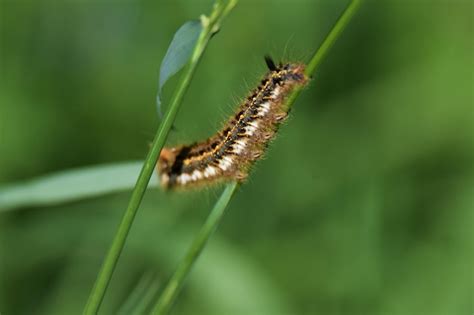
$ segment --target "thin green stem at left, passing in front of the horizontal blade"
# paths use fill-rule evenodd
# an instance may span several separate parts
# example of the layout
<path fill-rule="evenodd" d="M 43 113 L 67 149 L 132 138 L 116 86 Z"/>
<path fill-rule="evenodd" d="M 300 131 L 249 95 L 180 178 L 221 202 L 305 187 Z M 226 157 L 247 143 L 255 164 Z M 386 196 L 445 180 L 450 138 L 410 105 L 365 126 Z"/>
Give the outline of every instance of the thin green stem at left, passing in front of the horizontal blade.
<path fill-rule="evenodd" d="M 132 196 L 128 203 L 128 207 L 120 221 L 118 229 L 115 233 L 112 244 L 107 252 L 107 255 L 102 263 L 102 267 L 97 275 L 97 279 L 94 283 L 94 287 L 89 295 L 87 304 L 84 308 L 83 314 L 93 315 L 97 314 L 99 307 L 104 299 L 105 292 L 112 278 L 112 274 L 117 265 L 120 254 L 125 245 L 125 241 L 128 236 L 128 232 L 132 226 L 135 215 L 138 211 L 138 207 L 143 199 L 148 182 L 150 181 L 153 170 L 155 169 L 156 161 L 160 151 L 165 144 L 166 137 L 173 125 L 176 114 L 178 113 L 180 104 L 183 100 L 184 94 L 189 87 L 191 78 L 196 71 L 196 67 L 201 60 L 202 54 L 209 42 L 209 39 L 215 34 L 222 20 L 229 13 L 232 7 L 235 5 L 236 0 L 231 0 L 227 5 L 222 5 L 220 1 L 216 2 L 213 11 L 209 18 L 202 18 L 203 30 L 199 35 L 199 38 L 194 47 L 191 55 L 191 60 L 187 67 L 184 69 L 184 73 L 177 85 L 177 88 L 173 94 L 170 102 L 169 110 L 166 112 L 163 122 L 160 124 L 152 146 L 146 157 L 145 163 L 141 169 L 140 175 L 138 176 L 135 188 L 132 191 Z"/>

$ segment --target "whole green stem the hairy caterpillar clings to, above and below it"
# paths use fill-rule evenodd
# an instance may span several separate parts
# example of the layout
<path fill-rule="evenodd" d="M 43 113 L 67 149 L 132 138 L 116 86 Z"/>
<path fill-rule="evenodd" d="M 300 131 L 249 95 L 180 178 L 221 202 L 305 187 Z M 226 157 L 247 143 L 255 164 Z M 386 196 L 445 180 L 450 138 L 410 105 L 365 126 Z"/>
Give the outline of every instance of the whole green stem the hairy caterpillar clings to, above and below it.
<path fill-rule="evenodd" d="M 329 49 L 337 40 L 339 35 L 342 33 L 344 28 L 349 23 L 350 19 L 357 11 L 360 5 L 360 0 L 353 0 L 349 3 L 346 7 L 342 15 L 337 20 L 336 24 L 329 32 L 327 37 L 324 39 L 323 43 L 319 47 L 319 49 L 315 52 L 311 61 L 309 62 L 306 68 L 306 74 L 311 76 L 318 66 L 320 65 L 323 58 L 327 55 Z M 286 108 L 289 110 L 293 103 L 295 102 L 296 98 L 298 97 L 301 89 L 296 90 L 286 102 Z M 170 281 L 167 283 L 164 291 L 162 292 L 161 296 L 159 297 L 157 304 L 155 305 L 152 315 L 165 315 L 168 313 L 169 309 L 171 308 L 176 296 L 178 295 L 181 287 L 183 286 L 183 282 L 191 270 L 191 267 L 196 262 L 199 254 L 204 249 L 207 240 L 220 223 L 222 216 L 224 214 L 225 208 L 229 204 L 232 196 L 235 193 L 236 188 L 238 187 L 237 183 L 231 183 L 227 186 L 227 188 L 222 193 L 221 197 L 215 204 L 214 208 L 210 212 L 204 226 L 202 227 L 201 231 L 196 235 L 192 245 L 190 246 L 186 256 L 178 265 L 178 268 L 174 272 L 173 276 L 171 277 Z"/>

